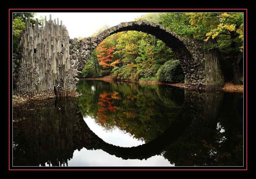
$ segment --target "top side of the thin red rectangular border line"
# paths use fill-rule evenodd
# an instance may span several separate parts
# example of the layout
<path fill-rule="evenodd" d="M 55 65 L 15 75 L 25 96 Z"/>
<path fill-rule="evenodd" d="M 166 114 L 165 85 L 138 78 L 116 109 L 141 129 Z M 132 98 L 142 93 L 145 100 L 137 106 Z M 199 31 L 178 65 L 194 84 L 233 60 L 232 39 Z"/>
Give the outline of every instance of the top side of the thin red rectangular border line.
<path fill-rule="evenodd" d="M 9 10 L 246 10 L 247 11 L 247 9 L 9 9 Z"/>

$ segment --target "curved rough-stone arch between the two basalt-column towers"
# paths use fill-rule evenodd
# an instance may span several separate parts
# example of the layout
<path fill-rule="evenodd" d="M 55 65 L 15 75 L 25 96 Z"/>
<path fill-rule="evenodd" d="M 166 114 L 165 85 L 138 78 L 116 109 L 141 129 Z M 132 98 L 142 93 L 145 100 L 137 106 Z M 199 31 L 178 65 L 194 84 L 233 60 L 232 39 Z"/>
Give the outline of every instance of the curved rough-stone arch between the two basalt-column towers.
<path fill-rule="evenodd" d="M 203 44 L 196 40 L 182 38 L 170 29 L 166 29 L 159 23 L 152 23 L 147 20 L 122 22 L 119 25 L 102 31 L 95 37 L 87 37 L 81 41 L 70 39 L 69 54 L 70 67 L 73 69 L 73 77 L 76 82 L 82 74 L 82 70 L 91 56 L 92 51 L 105 38 L 122 31 L 141 31 L 156 36 L 172 49 L 176 58 L 181 62 L 185 74 L 185 85 L 189 88 L 205 88 L 205 68 Z"/>

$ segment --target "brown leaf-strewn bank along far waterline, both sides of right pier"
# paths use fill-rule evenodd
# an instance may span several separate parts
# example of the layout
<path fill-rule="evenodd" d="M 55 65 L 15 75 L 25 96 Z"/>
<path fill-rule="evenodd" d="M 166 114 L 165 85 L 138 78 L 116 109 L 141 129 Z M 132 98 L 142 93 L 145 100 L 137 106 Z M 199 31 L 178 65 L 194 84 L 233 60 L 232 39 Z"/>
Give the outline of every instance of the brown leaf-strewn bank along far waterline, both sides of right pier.
<path fill-rule="evenodd" d="M 104 76 L 101 78 L 85 78 L 85 79 L 80 79 L 80 80 L 101 80 L 104 82 L 115 82 L 116 79 L 114 79 L 112 76 L 108 75 L 108 76 Z M 171 86 L 177 86 L 180 88 L 185 88 L 185 84 L 184 83 L 167 83 L 167 82 L 159 82 L 159 81 L 135 81 L 135 80 L 119 80 L 119 81 L 124 81 L 124 82 L 133 82 L 133 83 L 145 83 L 145 84 L 165 84 L 165 85 L 171 85 Z M 224 84 L 224 87 L 221 89 L 225 92 L 238 92 L 238 93 L 243 93 L 244 91 L 244 85 L 235 85 L 231 82 L 226 82 Z"/>

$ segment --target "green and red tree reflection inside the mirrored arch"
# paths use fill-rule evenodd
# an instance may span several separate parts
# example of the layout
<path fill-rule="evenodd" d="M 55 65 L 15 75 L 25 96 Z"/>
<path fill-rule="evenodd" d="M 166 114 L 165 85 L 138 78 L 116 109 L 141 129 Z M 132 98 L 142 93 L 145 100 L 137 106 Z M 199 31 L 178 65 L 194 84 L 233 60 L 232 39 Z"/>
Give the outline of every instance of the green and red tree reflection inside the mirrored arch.
<path fill-rule="evenodd" d="M 92 93 L 92 86 L 96 84 L 100 92 Z M 90 115 L 107 130 L 118 127 L 146 142 L 162 134 L 177 118 L 180 101 L 184 99 L 184 93 L 171 88 L 124 82 L 86 81 L 79 84 L 78 90 L 85 94 L 78 99 L 83 115 Z M 161 96 L 168 94 L 179 97 Z"/>

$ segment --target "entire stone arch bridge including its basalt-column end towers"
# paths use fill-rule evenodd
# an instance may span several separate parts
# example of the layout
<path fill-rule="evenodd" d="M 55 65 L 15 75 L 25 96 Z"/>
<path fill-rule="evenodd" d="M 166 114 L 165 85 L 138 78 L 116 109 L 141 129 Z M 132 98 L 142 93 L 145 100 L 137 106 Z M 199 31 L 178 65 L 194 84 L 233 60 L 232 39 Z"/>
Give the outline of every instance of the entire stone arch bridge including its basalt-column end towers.
<path fill-rule="evenodd" d="M 156 36 L 174 52 L 185 74 L 185 86 L 192 89 L 220 89 L 224 77 L 220 54 L 205 50 L 208 42 L 182 38 L 158 23 L 147 20 L 122 22 L 95 37 L 69 39 L 67 28 L 59 19 L 32 27 L 26 20 L 21 34 L 20 51 L 13 54 L 14 94 L 23 99 L 74 96 L 76 84 L 92 51 L 109 35 L 136 30 Z"/>

